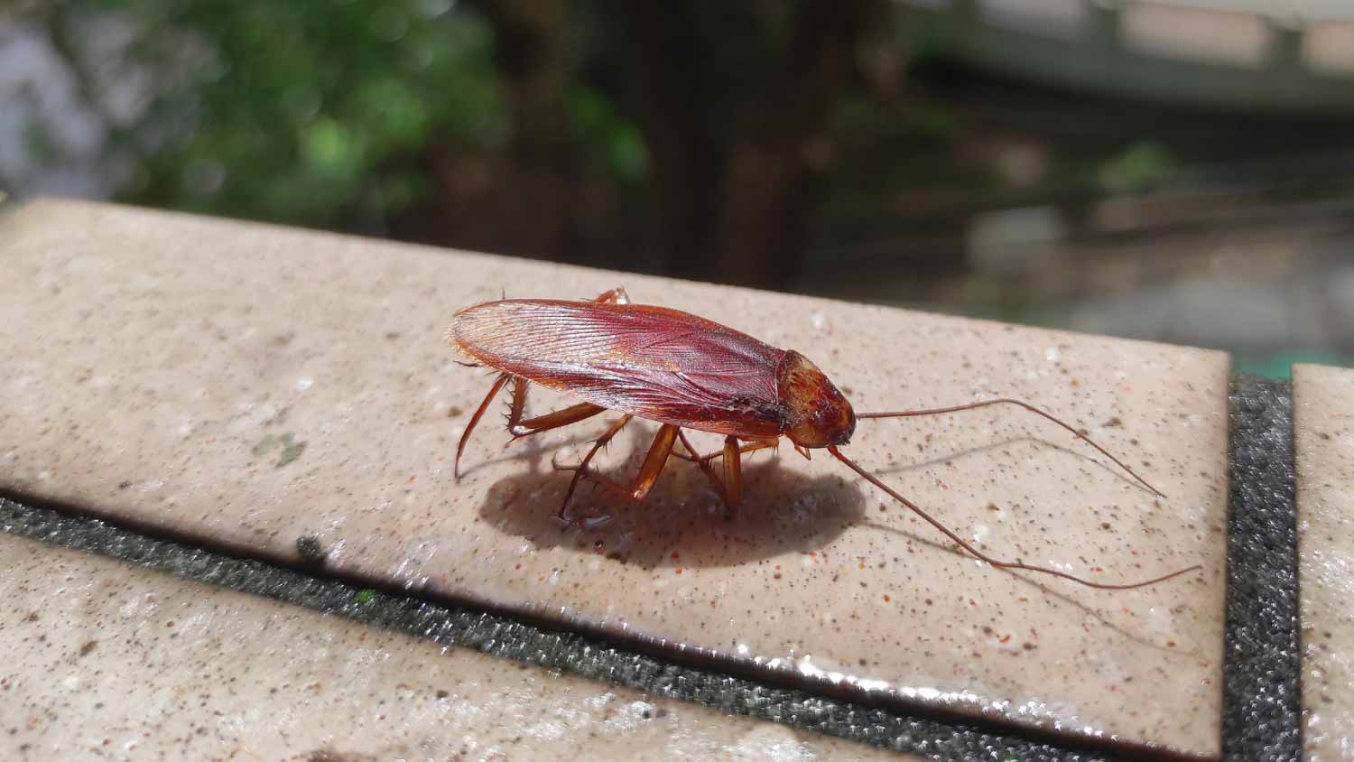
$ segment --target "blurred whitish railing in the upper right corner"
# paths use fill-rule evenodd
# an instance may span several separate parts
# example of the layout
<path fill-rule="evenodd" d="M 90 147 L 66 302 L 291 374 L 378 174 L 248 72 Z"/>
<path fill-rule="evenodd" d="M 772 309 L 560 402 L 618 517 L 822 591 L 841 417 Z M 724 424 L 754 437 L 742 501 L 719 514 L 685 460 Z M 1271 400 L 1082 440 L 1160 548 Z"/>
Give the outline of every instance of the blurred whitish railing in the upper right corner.
<path fill-rule="evenodd" d="M 898 0 L 914 45 L 1109 95 L 1354 111 L 1354 3 Z"/>

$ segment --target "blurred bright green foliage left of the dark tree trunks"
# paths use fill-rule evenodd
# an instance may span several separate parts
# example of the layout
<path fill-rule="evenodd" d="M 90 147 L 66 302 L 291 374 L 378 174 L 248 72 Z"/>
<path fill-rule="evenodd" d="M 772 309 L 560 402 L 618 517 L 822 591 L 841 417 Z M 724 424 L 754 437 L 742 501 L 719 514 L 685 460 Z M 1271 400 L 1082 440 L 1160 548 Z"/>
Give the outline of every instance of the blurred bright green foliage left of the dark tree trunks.
<path fill-rule="evenodd" d="M 508 130 L 490 30 L 445 0 L 104 5 L 209 51 L 157 107 L 191 129 L 148 157 L 144 200 L 332 226 L 425 195 L 429 145 L 492 148 Z"/>

